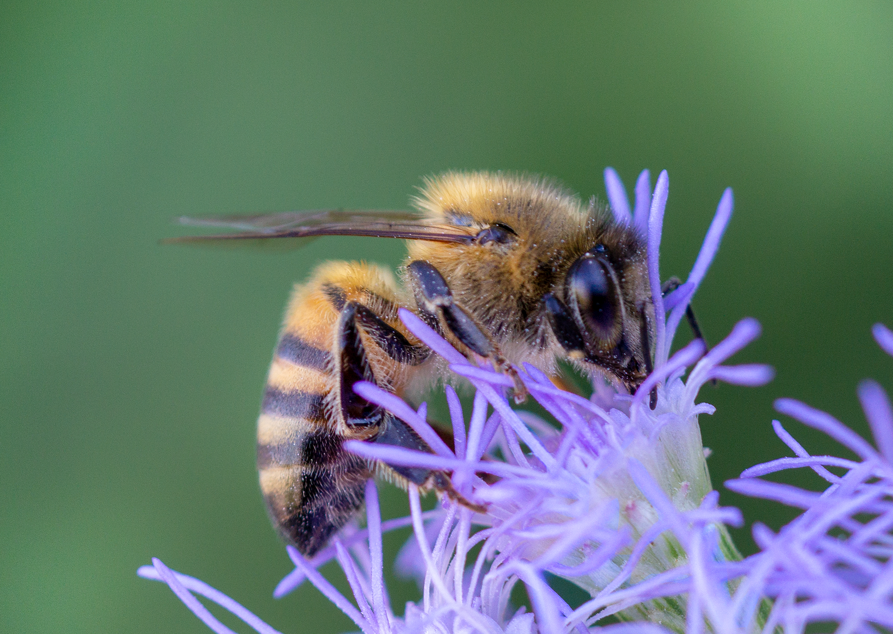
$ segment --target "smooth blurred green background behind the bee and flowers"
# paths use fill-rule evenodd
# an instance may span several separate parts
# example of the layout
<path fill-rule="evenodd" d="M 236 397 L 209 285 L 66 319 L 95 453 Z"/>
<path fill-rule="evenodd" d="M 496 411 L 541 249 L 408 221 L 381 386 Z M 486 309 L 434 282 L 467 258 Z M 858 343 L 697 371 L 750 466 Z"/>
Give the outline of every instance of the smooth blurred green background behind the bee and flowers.
<path fill-rule="evenodd" d="M 255 416 L 291 284 L 323 258 L 394 265 L 403 246 L 159 246 L 179 214 L 405 208 L 447 169 L 544 172 L 604 198 L 606 165 L 628 187 L 666 168 L 662 270 L 684 275 L 733 187 L 696 307 L 713 341 L 757 317 L 738 358 L 778 370 L 702 394 L 714 484 L 748 522 L 791 517 L 721 484 L 789 455 L 774 397 L 866 433 L 856 382 L 893 388 L 869 334 L 893 324 L 889 3 L 0 12 L 0 630 L 206 631 L 137 578 L 153 555 L 283 632 L 354 629 L 309 585 L 271 598 L 291 566 L 257 490 Z M 752 551 L 749 528 L 736 538 Z M 391 590 L 402 613 L 414 585 Z"/>

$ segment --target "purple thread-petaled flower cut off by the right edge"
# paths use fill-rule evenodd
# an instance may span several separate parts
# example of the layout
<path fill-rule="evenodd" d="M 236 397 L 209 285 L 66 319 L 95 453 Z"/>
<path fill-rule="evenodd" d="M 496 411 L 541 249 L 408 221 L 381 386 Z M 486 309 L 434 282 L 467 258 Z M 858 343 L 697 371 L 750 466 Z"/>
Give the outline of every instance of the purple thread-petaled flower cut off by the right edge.
<path fill-rule="evenodd" d="M 880 323 L 872 331 L 880 347 L 893 355 L 893 333 Z M 873 380 L 864 380 L 858 395 L 877 449 L 830 414 L 780 398 L 776 410 L 828 434 L 857 459 L 809 455 L 779 421 L 772 421 L 795 457 L 757 464 L 740 480 L 726 482 L 747 496 L 804 509 L 777 534 L 762 524 L 754 526 L 762 552 L 748 559 L 750 571 L 739 593 L 751 603 L 761 594 L 774 599 L 764 631 L 782 627 L 801 632 L 819 621 L 838 623 L 839 632 L 893 628 L 893 410 Z M 826 482 L 824 490 L 757 480 L 804 467 Z"/>

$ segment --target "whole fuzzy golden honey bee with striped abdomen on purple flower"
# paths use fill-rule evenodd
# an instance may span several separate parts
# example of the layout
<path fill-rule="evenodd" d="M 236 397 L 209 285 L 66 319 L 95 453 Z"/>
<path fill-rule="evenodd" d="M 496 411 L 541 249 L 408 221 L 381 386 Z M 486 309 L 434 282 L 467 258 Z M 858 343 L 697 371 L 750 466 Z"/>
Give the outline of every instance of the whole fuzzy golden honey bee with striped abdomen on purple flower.
<path fill-rule="evenodd" d="M 405 238 L 390 271 L 323 263 L 288 304 L 257 421 L 263 498 L 280 535 L 306 556 L 363 505 L 371 476 L 436 489 L 474 510 L 449 473 L 368 461 L 346 439 L 431 451 L 404 422 L 355 394 L 372 381 L 413 399 L 443 374 L 397 317 L 417 314 L 470 358 L 515 382 L 523 362 L 556 371 L 566 359 L 634 390 L 652 369 L 654 307 L 645 239 L 554 182 L 488 172 L 426 179 L 414 212 L 320 211 L 184 219 L 239 229 L 175 242 L 328 235 Z"/>

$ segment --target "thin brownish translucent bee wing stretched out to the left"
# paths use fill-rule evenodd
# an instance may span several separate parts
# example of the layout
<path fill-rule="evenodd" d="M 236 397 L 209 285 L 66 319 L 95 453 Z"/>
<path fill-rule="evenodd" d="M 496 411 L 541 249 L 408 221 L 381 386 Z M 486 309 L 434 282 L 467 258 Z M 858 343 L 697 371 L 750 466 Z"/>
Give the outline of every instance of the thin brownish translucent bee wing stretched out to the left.
<path fill-rule="evenodd" d="M 419 213 L 383 210 L 330 209 L 206 218 L 182 217 L 178 221 L 193 227 L 221 227 L 236 229 L 236 232 L 213 236 L 182 236 L 168 238 L 163 242 L 236 246 L 239 243 L 257 244 L 269 238 L 291 238 L 287 241 L 290 246 L 303 246 L 305 238 L 319 236 L 375 236 L 458 243 L 468 243 L 474 238 L 472 229 L 434 223 Z"/>

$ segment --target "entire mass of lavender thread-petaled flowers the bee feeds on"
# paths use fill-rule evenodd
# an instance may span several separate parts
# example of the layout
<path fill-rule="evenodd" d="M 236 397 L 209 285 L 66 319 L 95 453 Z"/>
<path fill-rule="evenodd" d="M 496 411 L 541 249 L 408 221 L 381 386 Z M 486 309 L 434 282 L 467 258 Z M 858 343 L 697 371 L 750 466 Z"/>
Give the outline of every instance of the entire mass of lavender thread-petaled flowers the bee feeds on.
<path fill-rule="evenodd" d="M 727 525 L 740 525 L 741 516 L 737 509 L 718 505 L 698 427 L 698 414 L 714 408 L 697 404 L 696 398 L 708 380 L 739 385 L 771 380 L 772 371 L 764 365 L 722 364 L 759 335 L 759 325 L 739 321 L 709 351 L 696 339 L 670 354 L 676 327 L 729 221 L 731 192 L 722 196 L 689 279 L 662 297 L 658 249 L 666 172 L 654 193 L 643 172 L 633 212 L 613 170 L 605 171 L 605 182 L 617 221 L 635 223 L 647 235 L 658 315 L 655 371 L 633 395 L 596 380 L 593 395 L 584 398 L 556 388 L 527 365 L 519 373 L 530 395 L 549 413 L 552 420 L 545 421 L 513 409 L 505 397 L 512 381 L 505 375 L 470 362 L 413 313 L 403 311 L 407 328 L 476 390 L 466 417 L 455 391 L 447 387 L 455 450 L 430 428 L 424 406 L 416 412 L 368 383 L 357 385 L 356 391 L 412 426 L 433 453 L 359 441 L 345 447 L 389 464 L 449 471 L 456 490 L 487 505 L 487 513 L 447 499 L 422 512 L 420 492 L 410 485 L 410 516 L 382 521 L 377 489 L 370 481 L 366 527 L 348 527 L 312 559 L 288 546 L 296 568 L 275 595 L 284 596 L 310 580 L 364 634 L 587 632 L 610 615 L 635 621 L 608 626 L 613 629 L 691 634 L 705 628 L 799 632 L 810 622 L 829 620 L 847 632 L 868 631 L 867 623 L 893 626 L 893 415 L 886 396 L 875 383 L 860 388 L 880 452 L 828 414 L 789 400 L 777 404 L 781 412 L 837 438 L 861 462 L 810 456 L 775 421 L 797 457 L 757 465 L 729 487 L 806 510 L 777 535 L 757 526 L 755 538 L 763 551 L 742 561 L 726 530 Z M 893 354 L 893 334 L 878 327 L 875 335 Z M 652 389 L 657 391 L 654 409 L 648 402 Z M 755 478 L 804 466 L 828 481 L 824 493 Z M 407 525 L 413 527 L 413 538 L 397 563 L 418 575 L 421 600 L 407 604 L 399 617 L 383 580 L 381 535 Z M 333 558 L 346 575 L 353 601 L 317 570 Z M 214 631 L 230 630 L 192 593 L 223 605 L 257 631 L 275 631 L 203 582 L 153 562 L 139 574 L 167 582 Z M 575 608 L 568 605 L 550 586 L 553 576 L 571 580 L 591 598 Z M 530 597 L 530 611 L 511 605 L 518 583 Z"/>

